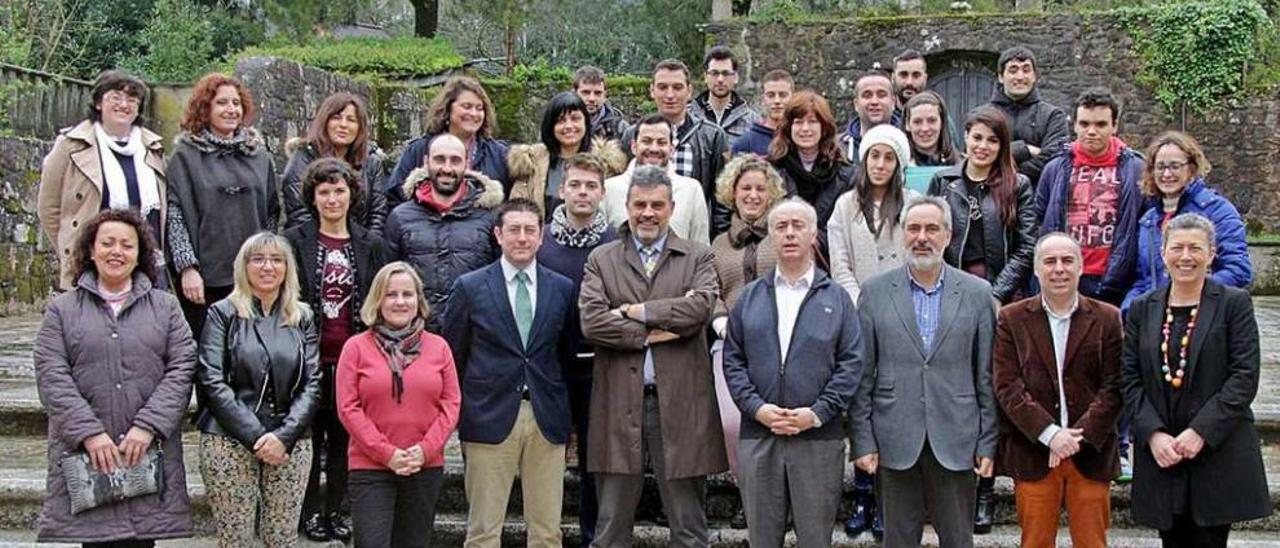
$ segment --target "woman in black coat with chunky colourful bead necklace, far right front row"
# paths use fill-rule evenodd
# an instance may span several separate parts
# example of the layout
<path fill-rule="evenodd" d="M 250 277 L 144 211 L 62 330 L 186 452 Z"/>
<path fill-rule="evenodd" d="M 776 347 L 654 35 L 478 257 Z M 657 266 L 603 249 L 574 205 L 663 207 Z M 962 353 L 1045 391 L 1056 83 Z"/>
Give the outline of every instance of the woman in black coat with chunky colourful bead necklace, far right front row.
<path fill-rule="evenodd" d="M 1249 410 L 1258 324 L 1248 292 L 1208 278 L 1213 236 L 1213 223 L 1197 214 L 1165 224 L 1170 283 L 1135 300 L 1125 321 L 1130 507 L 1165 547 L 1225 547 L 1231 524 L 1271 515 Z"/>

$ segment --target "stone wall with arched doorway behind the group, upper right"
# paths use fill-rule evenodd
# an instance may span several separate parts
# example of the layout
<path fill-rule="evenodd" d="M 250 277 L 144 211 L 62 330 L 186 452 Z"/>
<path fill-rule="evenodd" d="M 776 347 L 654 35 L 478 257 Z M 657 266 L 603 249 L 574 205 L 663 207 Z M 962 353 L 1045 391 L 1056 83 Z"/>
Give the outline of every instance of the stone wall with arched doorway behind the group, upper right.
<path fill-rule="evenodd" d="M 995 73 L 1001 50 L 1028 45 L 1037 55 L 1043 97 L 1056 105 L 1093 86 L 1111 88 L 1124 105 L 1120 137 L 1135 147 L 1165 129 L 1185 128 L 1204 147 L 1220 188 L 1253 227 L 1280 229 L 1280 99 L 1251 99 L 1197 117 L 1172 115 L 1135 82 L 1140 59 L 1133 41 L 1106 15 L 956 15 L 844 19 L 805 23 L 724 22 L 708 26 L 708 42 L 732 47 L 744 60 L 748 95 L 774 68 L 799 87 L 831 100 L 838 119 L 852 115 L 858 74 L 884 68 L 905 49 L 925 54 L 931 73 L 978 60 Z"/>

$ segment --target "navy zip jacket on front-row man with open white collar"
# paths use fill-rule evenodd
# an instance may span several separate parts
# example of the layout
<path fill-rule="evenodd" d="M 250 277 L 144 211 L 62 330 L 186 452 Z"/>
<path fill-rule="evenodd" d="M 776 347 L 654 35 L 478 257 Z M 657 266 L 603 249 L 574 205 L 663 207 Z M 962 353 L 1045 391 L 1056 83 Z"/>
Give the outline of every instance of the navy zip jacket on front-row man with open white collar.
<path fill-rule="evenodd" d="M 842 420 L 863 376 L 861 321 L 854 301 L 817 269 L 800 303 L 787 359 L 778 346 L 774 269 L 746 284 L 733 305 L 724 337 L 724 383 L 742 410 L 742 438 L 773 435 L 755 420 L 765 403 L 809 407 L 822 426 L 804 439 L 840 439 Z"/>

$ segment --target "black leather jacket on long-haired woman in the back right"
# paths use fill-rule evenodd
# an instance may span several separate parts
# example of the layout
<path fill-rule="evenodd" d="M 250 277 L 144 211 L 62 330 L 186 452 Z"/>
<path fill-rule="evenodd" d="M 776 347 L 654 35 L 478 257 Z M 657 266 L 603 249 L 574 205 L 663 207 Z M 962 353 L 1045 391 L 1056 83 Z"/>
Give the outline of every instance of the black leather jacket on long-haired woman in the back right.
<path fill-rule="evenodd" d="M 929 196 L 941 196 L 951 206 L 951 245 L 943 257 L 948 265 L 960 268 L 964 242 L 969 237 L 969 192 L 965 189 L 964 166 L 961 163 L 933 175 L 929 182 Z M 996 198 L 980 187 L 982 229 L 986 243 L 987 282 L 991 292 L 1001 303 L 1009 303 L 1027 286 L 1032 274 L 1032 256 L 1036 252 L 1036 233 L 1039 229 L 1036 219 L 1036 201 L 1030 181 L 1018 174 L 1016 196 L 1018 219 L 1012 225 L 1000 223 Z"/>

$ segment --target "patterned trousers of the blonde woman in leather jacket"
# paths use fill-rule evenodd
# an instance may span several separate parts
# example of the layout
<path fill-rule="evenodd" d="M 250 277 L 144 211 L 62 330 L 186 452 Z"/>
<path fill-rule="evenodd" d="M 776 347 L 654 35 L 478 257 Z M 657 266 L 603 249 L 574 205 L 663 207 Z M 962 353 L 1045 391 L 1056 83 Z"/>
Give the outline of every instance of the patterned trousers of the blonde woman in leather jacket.
<path fill-rule="evenodd" d="M 200 475 L 218 529 L 219 548 L 256 545 L 253 519 L 261 508 L 266 548 L 298 544 L 298 512 L 311 469 L 311 443 L 293 446 L 283 465 L 268 465 L 234 439 L 200 434 Z"/>

